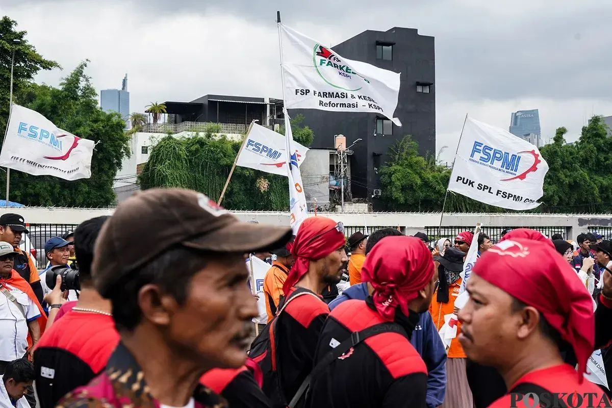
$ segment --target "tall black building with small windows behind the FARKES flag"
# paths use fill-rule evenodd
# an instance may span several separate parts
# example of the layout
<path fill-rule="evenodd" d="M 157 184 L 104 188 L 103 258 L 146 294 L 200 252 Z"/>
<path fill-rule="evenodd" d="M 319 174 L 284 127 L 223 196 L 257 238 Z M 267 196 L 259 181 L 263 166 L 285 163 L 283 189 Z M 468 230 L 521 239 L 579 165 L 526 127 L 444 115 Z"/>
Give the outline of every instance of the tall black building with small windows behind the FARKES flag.
<path fill-rule="evenodd" d="M 406 135 L 419 143 L 419 153 L 435 154 L 436 93 L 434 37 L 419 35 L 417 29 L 395 27 L 388 31 L 364 31 L 332 50 L 342 57 L 367 62 L 401 73 L 397 109 L 402 126 L 397 127 L 375 113 L 327 112 L 316 109 L 290 109 L 289 115 L 304 115 L 304 125 L 315 132 L 313 147 L 334 149 L 334 135 L 345 135 L 351 149 L 351 190 L 354 198 L 367 198 L 374 209 L 381 209 L 373 198 L 381 188 L 378 170 L 388 159 L 389 148 Z"/>

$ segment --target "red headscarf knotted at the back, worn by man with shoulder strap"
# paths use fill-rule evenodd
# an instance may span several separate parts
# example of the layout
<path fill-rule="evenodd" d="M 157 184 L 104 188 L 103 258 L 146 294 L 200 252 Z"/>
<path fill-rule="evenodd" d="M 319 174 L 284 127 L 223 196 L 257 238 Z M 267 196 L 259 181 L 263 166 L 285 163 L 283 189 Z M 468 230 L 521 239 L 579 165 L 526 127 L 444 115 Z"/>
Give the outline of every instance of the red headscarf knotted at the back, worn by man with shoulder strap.
<path fill-rule="evenodd" d="M 408 303 L 431 280 L 434 272 L 431 252 L 414 237 L 384 237 L 365 257 L 361 278 L 374 287 L 376 310 L 387 321 L 400 308 L 408 316 Z"/>

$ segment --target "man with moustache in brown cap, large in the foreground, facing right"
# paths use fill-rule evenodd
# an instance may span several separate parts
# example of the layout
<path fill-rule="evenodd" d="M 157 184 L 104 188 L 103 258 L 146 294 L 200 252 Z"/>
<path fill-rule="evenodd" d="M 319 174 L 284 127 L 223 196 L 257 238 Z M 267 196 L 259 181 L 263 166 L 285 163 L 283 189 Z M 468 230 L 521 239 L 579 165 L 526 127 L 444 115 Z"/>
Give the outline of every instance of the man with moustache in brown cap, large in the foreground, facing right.
<path fill-rule="evenodd" d="M 246 360 L 255 299 L 246 253 L 291 229 L 241 223 L 196 191 L 152 189 L 122 202 L 95 245 L 92 275 L 121 342 L 102 374 L 64 407 L 226 407 L 198 379 Z"/>

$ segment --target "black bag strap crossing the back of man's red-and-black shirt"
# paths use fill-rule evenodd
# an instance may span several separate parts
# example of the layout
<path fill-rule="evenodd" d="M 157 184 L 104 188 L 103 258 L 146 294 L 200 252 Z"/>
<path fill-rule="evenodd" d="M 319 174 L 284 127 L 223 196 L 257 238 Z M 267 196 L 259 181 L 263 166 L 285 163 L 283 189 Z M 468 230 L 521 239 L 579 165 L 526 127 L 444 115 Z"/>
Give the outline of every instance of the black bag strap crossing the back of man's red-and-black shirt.
<path fill-rule="evenodd" d="M 338 344 L 335 349 L 329 351 L 323 356 L 323 358 L 321 358 L 315 368 L 313 368 L 312 371 L 310 371 L 310 374 L 308 374 L 308 376 L 304 379 L 300 385 L 300 388 L 297 389 L 296 395 L 293 396 L 288 407 L 295 408 L 297 406 L 306 390 L 310 387 L 310 379 L 312 377 L 316 377 L 319 373 L 323 372 L 323 370 L 326 369 L 330 363 L 334 362 L 334 360 L 336 360 L 338 357 L 349 351 L 351 347 L 355 347 L 365 339 L 381 333 L 399 333 L 400 335 L 406 336 L 406 338 L 408 337 L 406 330 L 400 327 L 400 325 L 392 322 L 375 324 L 373 326 L 364 328 L 364 330 L 361 330 L 360 332 L 351 333 L 351 335 L 345 341 Z"/>

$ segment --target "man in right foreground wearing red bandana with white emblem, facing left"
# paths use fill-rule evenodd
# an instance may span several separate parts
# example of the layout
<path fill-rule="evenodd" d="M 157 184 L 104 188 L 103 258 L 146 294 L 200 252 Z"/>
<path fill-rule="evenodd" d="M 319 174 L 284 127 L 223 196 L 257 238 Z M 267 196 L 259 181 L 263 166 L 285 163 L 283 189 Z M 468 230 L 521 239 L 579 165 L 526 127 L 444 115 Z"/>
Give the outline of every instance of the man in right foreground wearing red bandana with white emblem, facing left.
<path fill-rule="evenodd" d="M 583 376 L 594 349 L 591 297 L 552 245 L 504 237 L 476 262 L 466 290 L 459 341 L 469 358 L 498 369 L 509 390 L 490 407 L 533 406 L 529 393 L 548 393 L 558 406 L 581 398 L 581 406 L 609 406 Z M 566 344 L 577 371 L 563 361 Z"/>

